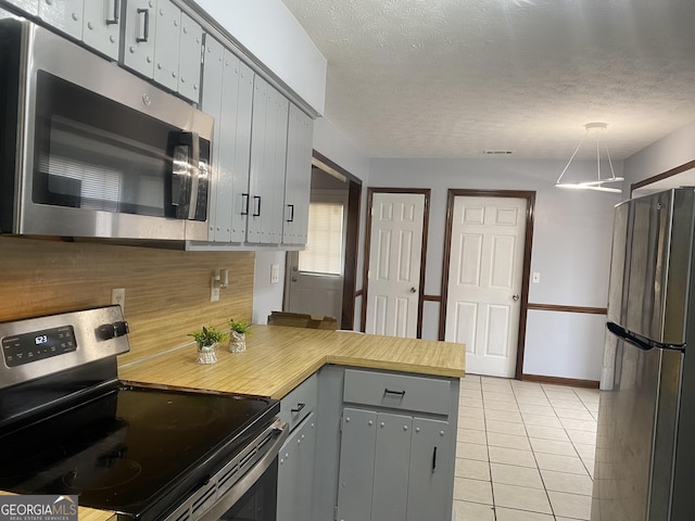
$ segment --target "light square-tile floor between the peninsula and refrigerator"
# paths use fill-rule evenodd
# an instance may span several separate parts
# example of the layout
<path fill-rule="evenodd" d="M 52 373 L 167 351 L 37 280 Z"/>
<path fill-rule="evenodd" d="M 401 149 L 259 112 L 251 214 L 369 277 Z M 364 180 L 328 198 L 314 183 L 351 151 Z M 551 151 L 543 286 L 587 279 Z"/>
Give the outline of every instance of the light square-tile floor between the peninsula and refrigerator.
<path fill-rule="evenodd" d="M 589 520 L 598 391 L 466 376 L 456 521 Z"/>

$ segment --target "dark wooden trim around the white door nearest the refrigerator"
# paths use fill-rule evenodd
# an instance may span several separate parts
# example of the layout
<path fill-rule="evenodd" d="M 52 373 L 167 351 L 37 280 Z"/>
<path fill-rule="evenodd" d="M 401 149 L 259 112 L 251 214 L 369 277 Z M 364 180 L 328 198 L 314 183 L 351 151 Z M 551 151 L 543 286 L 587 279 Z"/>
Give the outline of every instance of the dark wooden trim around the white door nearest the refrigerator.
<path fill-rule="evenodd" d="M 446 196 L 446 228 L 444 231 L 444 258 L 442 266 L 442 304 L 439 310 L 439 340 L 444 340 L 446 329 L 446 304 L 448 297 L 448 268 L 452 254 L 452 233 L 454 221 L 454 200 L 457 196 L 469 198 L 514 198 L 526 199 L 526 236 L 523 244 L 523 265 L 521 274 L 521 309 L 519 310 L 519 331 L 517 339 L 517 359 L 514 378 L 520 380 L 523 374 L 523 353 L 526 348 L 526 327 L 529 312 L 529 282 L 531 275 L 531 250 L 533 241 L 533 217 L 535 211 L 535 191 L 526 190 L 467 190 L 450 188 Z"/>

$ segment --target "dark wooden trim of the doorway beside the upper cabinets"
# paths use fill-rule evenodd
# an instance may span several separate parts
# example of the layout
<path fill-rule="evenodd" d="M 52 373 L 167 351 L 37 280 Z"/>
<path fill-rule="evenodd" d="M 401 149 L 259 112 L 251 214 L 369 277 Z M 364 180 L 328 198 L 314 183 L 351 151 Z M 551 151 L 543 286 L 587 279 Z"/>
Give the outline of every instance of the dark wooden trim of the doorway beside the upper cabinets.
<path fill-rule="evenodd" d="M 313 157 L 332 168 L 349 181 L 348 188 L 348 226 L 345 229 L 345 252 L 343 258 L 343 300 L 341 305 L 341 329 L 353 329 L 355 326 L 355 301 L 361 293 L 357 288 L 357 254 L 359 252 L 359 211 L 362 201 L 362 180 L 342 166 L 333 163 L 316 150 Z"/>

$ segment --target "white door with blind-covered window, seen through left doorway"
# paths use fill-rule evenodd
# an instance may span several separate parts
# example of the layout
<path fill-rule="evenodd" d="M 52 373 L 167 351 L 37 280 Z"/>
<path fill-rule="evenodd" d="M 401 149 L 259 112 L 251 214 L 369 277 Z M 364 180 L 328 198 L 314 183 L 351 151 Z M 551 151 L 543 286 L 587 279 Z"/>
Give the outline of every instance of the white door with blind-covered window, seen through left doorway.
<path fill-rule="evenodd" d="M 287 254 L 286 310 L 334 317 L 340 327 L 346 218 L 346 191 L 312 191 L 306 247 Z"/>

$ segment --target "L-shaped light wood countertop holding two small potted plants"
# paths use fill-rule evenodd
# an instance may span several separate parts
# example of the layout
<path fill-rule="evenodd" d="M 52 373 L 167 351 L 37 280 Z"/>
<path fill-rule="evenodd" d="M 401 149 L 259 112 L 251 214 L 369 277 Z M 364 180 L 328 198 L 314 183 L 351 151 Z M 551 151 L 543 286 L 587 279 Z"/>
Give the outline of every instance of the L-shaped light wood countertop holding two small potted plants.
<path fill-rule="evenodd" d="M 326 364 L 463 378 L 465 346 L 345 331 L 253 326 L 245 353 L 217 350 L 217 364 L 195 364 L 189 345 L 127 364 L 124 381 L 282 398 Z"/>

